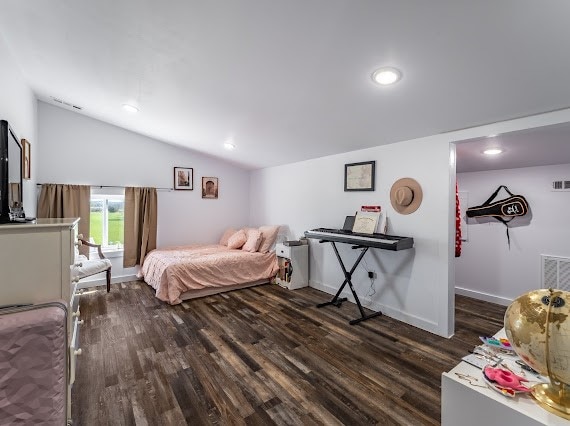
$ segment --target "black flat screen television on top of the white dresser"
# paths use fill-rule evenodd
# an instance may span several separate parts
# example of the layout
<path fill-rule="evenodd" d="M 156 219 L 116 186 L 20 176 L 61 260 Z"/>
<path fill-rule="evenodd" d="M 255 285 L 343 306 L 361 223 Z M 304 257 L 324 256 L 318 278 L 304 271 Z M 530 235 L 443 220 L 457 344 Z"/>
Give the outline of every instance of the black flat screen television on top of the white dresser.
<path fill-rule="evenodd" d="M 0 223 L 13 222 L 22 209 L 22 145 L 0 120 Z"/>

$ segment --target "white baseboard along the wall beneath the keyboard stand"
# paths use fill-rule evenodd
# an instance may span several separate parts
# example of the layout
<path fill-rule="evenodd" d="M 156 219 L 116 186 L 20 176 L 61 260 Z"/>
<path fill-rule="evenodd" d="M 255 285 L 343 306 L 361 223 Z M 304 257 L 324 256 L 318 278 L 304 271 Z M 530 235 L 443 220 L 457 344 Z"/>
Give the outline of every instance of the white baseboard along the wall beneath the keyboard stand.
<path fill-rule="evenodd" d="M 325 293 L 328 293 L 332 296 L 334 296 L 338 291 L 338 287 L 333 287 L 313 280 L 309 280 L 309 287 L 315 288 L 320 291 L 324 291 Z M 358 312 L 358 307 L 356 307 L 356 301 L 354 300 L 354 297 L 352 296 L 352 292 L 350 291 L 350 289 L 346 287 L 346 289 L 343 290 L 343 292 L 341 293 L 341 296 L 346 297 L 349 302 L 355 304 L 354 307 L 355 318 L 358 318 L 360 316 Z M 371 309 L 373 311 L 381 311 L 383 315 L 386 315 L 390 318 L 397 319 L 398 321 L 405 322 L 406 324 L 413 325 L 414 327 L 421 328 L 422 330 L 429 331 L 430 333 L 437 334 L 438 336 L 440 335 L 437 330 L 437 323 L 433 321 L 418 317 L 416 315 L 412 315 L 408 312 L 400 311 L 398 309 L 383 305 L 378 302 L 374 302 L 370 300 L 370 298 L 368 297 L 363 297 L 358 295 L 358 298 L 360 299 L 360 303 L 362 304 L 362 306 L 367 309 Z"/>

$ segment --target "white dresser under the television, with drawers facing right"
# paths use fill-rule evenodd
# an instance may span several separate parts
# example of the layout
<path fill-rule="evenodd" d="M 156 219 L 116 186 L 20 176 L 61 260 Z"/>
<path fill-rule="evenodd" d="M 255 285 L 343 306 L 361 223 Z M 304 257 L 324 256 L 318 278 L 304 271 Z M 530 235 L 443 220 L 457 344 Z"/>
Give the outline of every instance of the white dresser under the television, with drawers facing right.
<path fill-rule="evenodd" d="M 68 305 L 68 418 L 79 349 L 79 295 L 71 276 L 79 219 L 0 225 L 0 306 L 64 300 Z"/>

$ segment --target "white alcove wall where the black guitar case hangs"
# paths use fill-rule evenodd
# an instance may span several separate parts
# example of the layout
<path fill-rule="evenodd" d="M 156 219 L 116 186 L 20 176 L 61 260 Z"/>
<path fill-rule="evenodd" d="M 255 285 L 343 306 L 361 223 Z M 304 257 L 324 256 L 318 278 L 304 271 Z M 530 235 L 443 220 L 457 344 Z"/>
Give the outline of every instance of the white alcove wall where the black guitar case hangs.
<path fill-rule="evenodd" d="M 540 288 L 540 254 L 570 256 L 570 192 L 551 191 L 552 181 L 569 178 L 570 164 L 457 175 L 459 190 L 469 194 L 468 207 L 482 204 L 499 185 L 506 185 L 523 195 L 531 210 L 531 216 L 511 222 L 510 250 L 502 223 L 469 219 L 469 241 L 456 259 L 458 293 L 508 305 Z M 507 196 L 501 191 L 497 200 Z"/>

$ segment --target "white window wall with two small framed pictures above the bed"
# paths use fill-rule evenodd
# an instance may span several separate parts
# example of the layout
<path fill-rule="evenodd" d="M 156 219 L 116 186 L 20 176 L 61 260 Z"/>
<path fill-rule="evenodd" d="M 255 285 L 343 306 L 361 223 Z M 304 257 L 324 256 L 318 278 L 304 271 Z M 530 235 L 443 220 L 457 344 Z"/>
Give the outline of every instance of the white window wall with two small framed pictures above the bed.
<path fill-rule="evenodd" d="M 249 220 L 249 172 L 84 115 L 39 102 L 39 183 L 172 188 L 173 168 L 194 168 L 193 191 L 158 192 L 159 247 L 216 242 Z M 202 176 L 219 178 L 219 198 L 202 199 Z M 113 259 L 114 280 L 132 275 Z M 115 268 L 116 266 L 116 268 Z"/>

